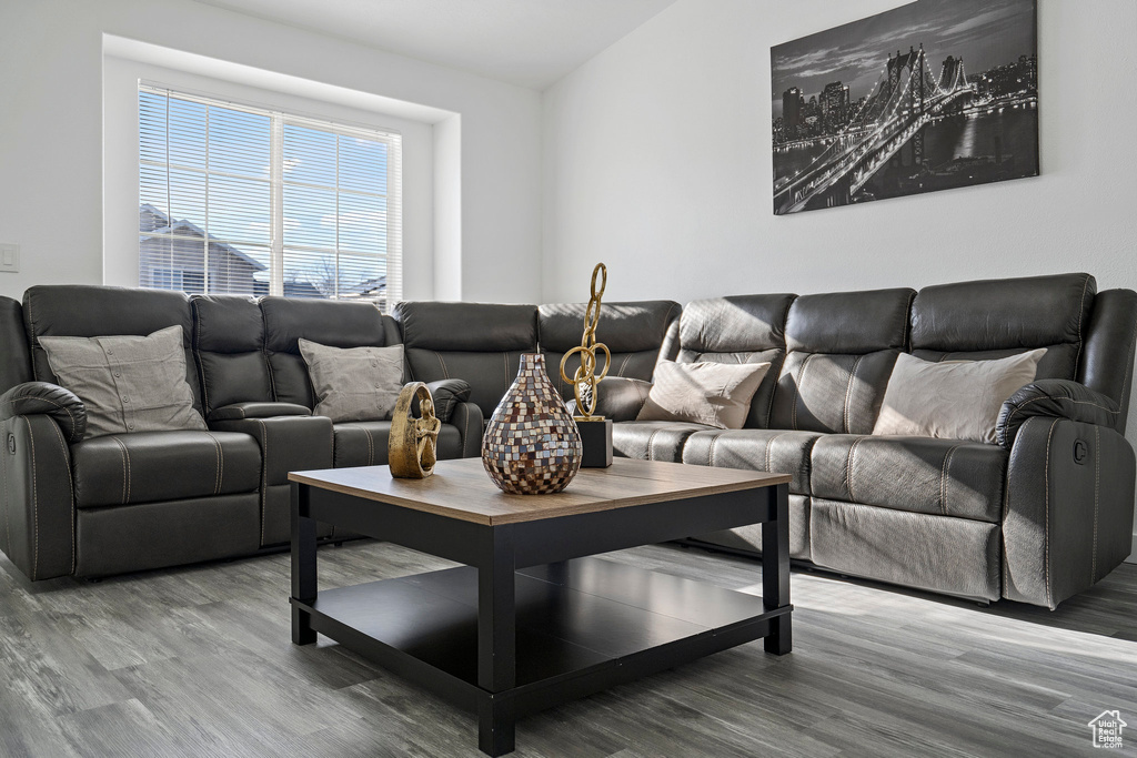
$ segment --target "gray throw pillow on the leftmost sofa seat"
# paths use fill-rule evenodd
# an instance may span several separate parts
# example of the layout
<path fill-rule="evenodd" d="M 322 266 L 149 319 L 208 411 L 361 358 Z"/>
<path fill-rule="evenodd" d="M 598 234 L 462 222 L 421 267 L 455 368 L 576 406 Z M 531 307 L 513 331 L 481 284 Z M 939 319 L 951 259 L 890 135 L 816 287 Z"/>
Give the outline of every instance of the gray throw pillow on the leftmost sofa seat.
<path fill-rule="evenodd" d="M 86 407 L 83 439 L 205 430 L 185 381 L 182 327 L 149 336 L 41 336 L 59 384 Z"/>

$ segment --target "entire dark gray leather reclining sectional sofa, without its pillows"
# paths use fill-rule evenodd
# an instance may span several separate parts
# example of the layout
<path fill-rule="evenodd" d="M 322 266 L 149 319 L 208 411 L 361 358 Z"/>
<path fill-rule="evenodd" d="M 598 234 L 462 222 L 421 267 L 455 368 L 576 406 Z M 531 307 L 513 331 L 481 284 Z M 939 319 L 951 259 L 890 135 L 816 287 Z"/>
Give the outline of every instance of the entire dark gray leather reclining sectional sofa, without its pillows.
<path fill-rule="evenodd" d="M 332 424 L 297 340 L 402 342 L 405 378 L 431 382 L 441 457 L 475 456 L 483 418 L 523 351 L 557 378 L 584 307 L 366 303 L 114 288 L 0 299 L 0 549 L 33 580 L 248 555 L 288 539 L 289 470 L 385 463 L 388 422 Z M 53 377 L 45 334 L 148 334 L 180 324 L 209 432 L 81 441 L 83 409 Z M 791 555 L 951 594 L 1055 607 L 1129 552 L 1134 452 L 1123 438 L 1137 293 L 1085 274 L 875 292 L 606 303 L 613 353 L 600 411 L 617 455 L 781 470 Z M 870 435 L 901 351 L 994 358 L 1045 347 L 1038 381 L 1004 407 L 999 444 Z M 637 423 L 659 359 L 771 361 L 746 428 Z M 36 381 L 40 384 L 35 384 Z M 32 383 L 32 384 L 28 384 Z M 566 398 L 571 388 L 561 384 Z M 130 438 L 130 439 L 127 439 Z M 327 539 L 350 535 L 322 534 Z M 746 551 L 760 530 L 702 535 Z"/>

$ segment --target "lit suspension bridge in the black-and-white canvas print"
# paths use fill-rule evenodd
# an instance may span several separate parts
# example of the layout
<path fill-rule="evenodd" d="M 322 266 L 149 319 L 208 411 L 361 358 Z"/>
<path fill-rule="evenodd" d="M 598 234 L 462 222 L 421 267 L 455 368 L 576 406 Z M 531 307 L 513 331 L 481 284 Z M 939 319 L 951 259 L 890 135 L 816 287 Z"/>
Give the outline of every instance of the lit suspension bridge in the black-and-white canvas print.
<path fill-rule="evenodd" d="M 889 56 L 885 73 L 829 147 L 774 190 L 774 213 L 790 214 L 850 202 L 853 195 L 908 142 L 923 163 L 923 127 L 961 113 L 974 98 L 962 58 L 948 58 L 932 74 L 923 45 Z"/>

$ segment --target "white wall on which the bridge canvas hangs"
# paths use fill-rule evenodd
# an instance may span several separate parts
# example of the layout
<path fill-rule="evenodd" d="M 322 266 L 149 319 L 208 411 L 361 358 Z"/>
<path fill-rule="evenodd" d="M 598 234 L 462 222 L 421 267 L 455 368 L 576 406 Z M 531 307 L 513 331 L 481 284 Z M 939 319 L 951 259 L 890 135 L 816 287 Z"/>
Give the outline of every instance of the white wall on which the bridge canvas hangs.
<path fill-rule="evenodd" d="M 770 48 L 899 5 L 679 0 L 547 90 L 543 299 L 581 299 L 599 260 L 613 300 L 1070 270 L 1137 289 L 1134 0 L 1039 0 L 1041 176 L 773 216 Z"/>

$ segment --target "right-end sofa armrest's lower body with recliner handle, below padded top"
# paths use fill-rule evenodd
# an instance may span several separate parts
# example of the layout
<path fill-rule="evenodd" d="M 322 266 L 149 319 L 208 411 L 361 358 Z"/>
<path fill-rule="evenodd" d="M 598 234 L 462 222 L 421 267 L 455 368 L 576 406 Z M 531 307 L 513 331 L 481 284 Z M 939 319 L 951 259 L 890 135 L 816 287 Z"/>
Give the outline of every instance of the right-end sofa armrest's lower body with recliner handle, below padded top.
<path fill-rule="evenodd" d="M 1055 608 L 1132 549 L 1134 449 L 1110 426 L 1031 416 L 1007 461 L 1003 597 Z"/>

